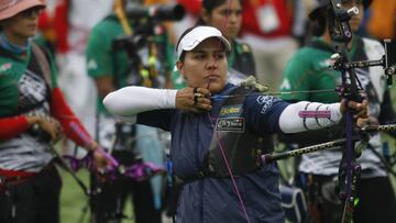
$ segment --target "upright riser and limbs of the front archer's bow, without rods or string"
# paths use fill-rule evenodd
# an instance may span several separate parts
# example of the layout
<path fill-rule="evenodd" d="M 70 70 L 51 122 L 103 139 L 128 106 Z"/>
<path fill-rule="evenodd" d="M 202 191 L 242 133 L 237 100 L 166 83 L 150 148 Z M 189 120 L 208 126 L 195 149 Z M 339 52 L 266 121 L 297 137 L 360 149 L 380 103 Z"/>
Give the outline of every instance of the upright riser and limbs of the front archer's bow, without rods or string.
<path fill-rule="evenodd" d="M 361 102 L 363 98 L 360 92 L 363 88 L 355 75 L 354 68 L 346 67 L 346 47 L 352 40 L 352 31 L 349 21 L 352 16 L 358 15 L 359 9 L 343 9 L 341 0 L 330 0 L 328 5 L 329 31 L 331 44 L 337 52 L 332 56 L 334 60 L 333 68 L 341 71 L 342 91 L 341 97 L 346 100 Z M 356 199 L 356 186 L 360 180 L 361 166 L 356 161 L 358 154 L 354 150 L 354 123 L 353 111 L 346 108 L 345 112 L 345 143 L 342 152 L 342 158 L 339 167 L 339 186 L 340 198 L 344 201 L 341 222 L 348 223 L 352 221 L 353 210 Z"/>

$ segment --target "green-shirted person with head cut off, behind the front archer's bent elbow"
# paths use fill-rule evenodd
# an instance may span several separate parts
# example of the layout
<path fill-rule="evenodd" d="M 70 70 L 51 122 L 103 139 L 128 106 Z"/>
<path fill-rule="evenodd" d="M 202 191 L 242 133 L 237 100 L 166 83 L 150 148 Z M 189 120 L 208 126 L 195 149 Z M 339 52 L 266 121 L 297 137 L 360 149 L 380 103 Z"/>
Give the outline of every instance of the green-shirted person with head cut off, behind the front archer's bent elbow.
<path fill-rule="evenodd" d="M 147 153 L 155 155 L 160 161 L 157 165 L 164 164 L 158 130 L 117 123 L 101 103 L 106 94 L 121 87 L 164 87 L 168 78 L 172 60 L 166 59 L 173 57 L 172 52 L 167 55 L 166 30 L 148 15 L 134 13 L 133 10 L 141 9 L 142 3 L 117 0 L 114 12 L 92 29 L 87 47 L 88 75 L 95 79 L 99 93 L 98 141 L 125 166 L 141 161 L 142 157 L 146 161 L 144 154 Z M 152 188 L 150 180 L 138 182 L 121 178 L 105 182 L 94 179 L 92 182 L 102 189 L 91 204 L 97 222 L 121 221 L 129 196 L 132 196 L 136 223 L 161 222 L 161 179 L 156 185 L 160 189 Z"/>

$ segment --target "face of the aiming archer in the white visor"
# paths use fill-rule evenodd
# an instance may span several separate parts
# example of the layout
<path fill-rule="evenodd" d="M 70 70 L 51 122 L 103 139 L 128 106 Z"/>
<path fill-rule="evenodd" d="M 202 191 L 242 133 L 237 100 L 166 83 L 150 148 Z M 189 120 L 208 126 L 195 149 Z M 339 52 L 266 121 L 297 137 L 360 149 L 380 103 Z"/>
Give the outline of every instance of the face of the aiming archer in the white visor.
<path fill-rule="evenodd" d="M 227 81 L 227 56 L 222 42 L 208 38 L 190 52 L 186 52 L 183 62 L 177 62 L 177 69 L 189 87 L 207 88 L 220 92 Z"/>

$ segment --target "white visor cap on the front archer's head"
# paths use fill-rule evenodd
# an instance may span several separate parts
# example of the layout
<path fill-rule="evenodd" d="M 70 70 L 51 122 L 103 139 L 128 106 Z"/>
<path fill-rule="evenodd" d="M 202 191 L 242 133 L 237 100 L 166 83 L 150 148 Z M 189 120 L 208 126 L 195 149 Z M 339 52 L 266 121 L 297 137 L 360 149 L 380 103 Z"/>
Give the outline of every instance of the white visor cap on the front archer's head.
<path fill-rule="evenodd" d="M 182 35 L 176 46 L 177 57 L 180 58 L 180 55 L 184 51 L 193 51 L 198 46 L 198 44 L 210 37 L 219 38 L 224 44 L 226 49 L 231 51 L 230 43 L 218 29 L 213 26 L 200 25 L 191 29 L 190 31 L 187 31 L 187 33 Z"/>

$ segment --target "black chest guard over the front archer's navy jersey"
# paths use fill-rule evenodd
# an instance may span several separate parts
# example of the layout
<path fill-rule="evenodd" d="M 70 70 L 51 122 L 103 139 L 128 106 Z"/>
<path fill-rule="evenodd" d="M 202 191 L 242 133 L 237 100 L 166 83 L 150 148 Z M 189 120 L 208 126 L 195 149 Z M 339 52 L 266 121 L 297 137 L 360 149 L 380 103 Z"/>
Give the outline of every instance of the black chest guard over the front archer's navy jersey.
<path fill-rule="evenodd" d="M 245 93 L 250 91 L 237 88 L 232 92 L 235 97 L 228 98 L 220 108 L 208 156 L 209 176 L 230 176 L 221 150 L 224 150 L 232 174 L 243 175 L 260 168 L 260 155 L 272 152 L 274 147 L 271 137 L 253 133 L 246 126 L 243 103 Z"/>

